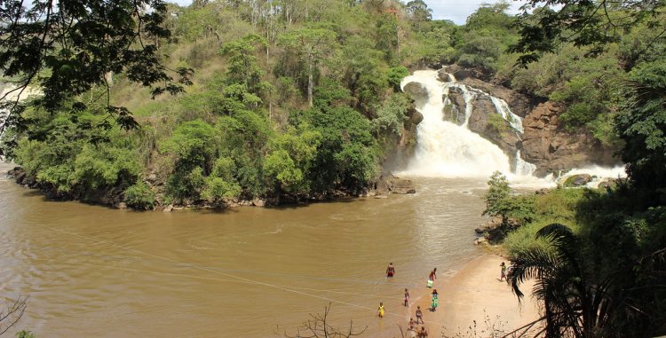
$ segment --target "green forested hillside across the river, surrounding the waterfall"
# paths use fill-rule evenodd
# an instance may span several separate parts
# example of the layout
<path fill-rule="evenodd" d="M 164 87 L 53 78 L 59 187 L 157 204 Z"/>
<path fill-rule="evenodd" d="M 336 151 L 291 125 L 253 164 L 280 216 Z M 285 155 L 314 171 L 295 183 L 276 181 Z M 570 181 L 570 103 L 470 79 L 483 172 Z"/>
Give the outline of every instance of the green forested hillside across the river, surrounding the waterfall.
<path fill-rule="evenodd" d="M 519 17 L 508 7 L 482 5 L 456 26 L 432 20 L 420 0 L 168 4 L 156 24 L 170 35 L 148 32 L 142 43 L 191 84 L 185 92 L 144 89 L 136 69 L 109 71 L 107 86 L 61 93 L 56 108 L 28 106 L 3 152 L 52 196 L 121 193 L 134 208 L 358 194 L 380 175 L 412 107 L 400 79 L 453 63 L 561 102 L 567 130 L 621 145 L 619 83 L 662 64 L 663 44 L 651 43 L 659 32 L 638 23 L 596 59 L 562 43 L 520 67 L 522 54 L 509 52 Z M 168 89 L 176 95 L 155 97 Z"/>

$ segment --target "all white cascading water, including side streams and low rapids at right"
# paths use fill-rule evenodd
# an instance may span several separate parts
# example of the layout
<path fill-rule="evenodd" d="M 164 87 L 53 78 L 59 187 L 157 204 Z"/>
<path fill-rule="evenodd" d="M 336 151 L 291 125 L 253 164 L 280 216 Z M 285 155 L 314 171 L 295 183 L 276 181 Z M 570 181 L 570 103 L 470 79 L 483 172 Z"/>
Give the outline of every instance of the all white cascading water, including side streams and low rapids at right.
<path fill-rule="evenodd" d="M 576 174 L 589 174 L 593 177 L 590 187 L 596 187 L 607 178 L 626 177 L 623 166 L 613 169 L 589 166 L 583 169 L 571 169 L 537 178 L 534 176 L 536 166 L 522 159 L 520 151 L 514 156 L 513 172 L 509 157 L 495 144 L 468 129 L 472 115 L 472 102 L 480 96 L 487 96 L 495 106 L 496 114 L 503 119 L 522 139 L 522 119 L 511 113 L 509 105 L 501 98 L 495 98 L 482 90 L 456 83 L 456 78 L 448 74 L 448 83 L 440 81 L 438 71 L 419 70 L 405 77 L 400 83 L 402 90 L 408 83 L 418 83 L 427 91 L 427 99 L 418 102 L 416 110 L 424 115 L 424 120 L 416 130 L 416 153 L 408 163 L 402 175 L 412 177 L 483 177 L 488 178 L 496 170 L 503 172 L 514 187 L 548 187 L 561 184 L 566 177 Z M 449 88 L 457 88 L 462 92 L 465 103 L 464 122 L 458 125 L 444 121 L 444 107 L 451 101 L 445 93 Z"/>

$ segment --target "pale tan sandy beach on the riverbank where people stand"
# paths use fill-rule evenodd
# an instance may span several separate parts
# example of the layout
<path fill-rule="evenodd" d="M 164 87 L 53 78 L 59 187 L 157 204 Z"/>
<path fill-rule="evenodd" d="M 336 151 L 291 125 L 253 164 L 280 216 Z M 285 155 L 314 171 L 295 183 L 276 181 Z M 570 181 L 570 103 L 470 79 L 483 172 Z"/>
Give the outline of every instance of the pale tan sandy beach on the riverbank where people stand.
<path fill-rule="evenodd" d="M 414 316 L 416 306 L 421 306 L 429 337 L 440 333 L 445 337 L 488 337 L 493 330 L 508 333 L 534 321 L 539 314 L 530 295 L 534 283 L 524 285 L 526 296 L 519 304 L 507 283 L 499 280 L 503 261 L 509 263 L 498 255 L 482 255 L 452 278 L 437 279 L 433 288 L 439 293 L 440 306 L 430 310 L 431 297 L 425 293 L 432 289 L 426 289 L 410 304 L 410 316 Z"/>

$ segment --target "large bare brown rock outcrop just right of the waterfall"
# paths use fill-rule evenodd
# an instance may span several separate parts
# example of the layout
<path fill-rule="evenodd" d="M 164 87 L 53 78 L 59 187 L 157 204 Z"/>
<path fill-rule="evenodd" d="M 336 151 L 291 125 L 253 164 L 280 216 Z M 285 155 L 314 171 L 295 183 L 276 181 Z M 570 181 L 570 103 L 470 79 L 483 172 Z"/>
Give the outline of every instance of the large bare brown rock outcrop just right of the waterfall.
<path fill-rule="evenodd" d="M 537 106 L 523 120 L 523 156 L 536 165 L 536 175 L 598 164 L 613 166 L 614 149 L 602 146 L 587 132 L 569 133 L 559 124 L 563 107 L 554 102 Z"/>

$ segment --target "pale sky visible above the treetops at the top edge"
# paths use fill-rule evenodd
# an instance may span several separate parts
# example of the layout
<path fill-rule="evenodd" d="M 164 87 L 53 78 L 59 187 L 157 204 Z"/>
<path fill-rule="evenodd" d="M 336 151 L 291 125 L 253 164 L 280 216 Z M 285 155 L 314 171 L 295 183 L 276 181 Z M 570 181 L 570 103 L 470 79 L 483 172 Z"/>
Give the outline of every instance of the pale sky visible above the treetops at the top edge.
<path fill-rule="evenodd" d="M 432 9 L 432 19 L 451 20 L 458 25 L 464 24 L 467 17 L 476 11 L 481 4 L 495 4 L 497 0 L 424 0 L 425 4 Z M 181 5 L 192 4 L 192 0 L 170 0 Z M 518 12 L 519 7 L 525 1 L 510 1 L 511 14 Z"/>

